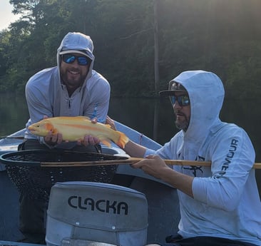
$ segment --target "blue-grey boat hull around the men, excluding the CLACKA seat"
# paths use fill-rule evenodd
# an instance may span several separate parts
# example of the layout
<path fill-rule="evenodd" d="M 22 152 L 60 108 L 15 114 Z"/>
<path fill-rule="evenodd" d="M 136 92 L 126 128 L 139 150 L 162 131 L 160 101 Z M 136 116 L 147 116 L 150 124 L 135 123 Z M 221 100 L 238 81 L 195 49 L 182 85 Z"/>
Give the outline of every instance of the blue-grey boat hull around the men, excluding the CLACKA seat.
<path fill-rule="evenodd" d="M 116 128 L 133 140 L 145 147 L 158 149 L 160 144 L 146 137 L 142 133 L 128 128 L 126 125 L 116 122 Z M 24 129 L 13 135 L 24 134 Z M 0 154 L 17 150 L 17 145 L 22 140 L 0 140 Z M 102 146 L 102 152 L 108 154 L 126 155 L 115 144 L 111 148 Z M 0 189 L 1 194 L 6 194 L 0 207 L 0 239 L 3 244 L 12 245 L 19 241 L 23 235 L 19 231 L 19 192 L 9 179 L 5 165 L 0 164 Z M 148 235 L 147 243 L 164 241 L 165 236 L 178 230 L 180 212 L 178 205 L 177 190 L 170 185 L 146 175 L 142 170 L 131 168 L 130 165 L 118 165 L 113 183 L 137 190 L 148 200 Z M 16 243 L 17 245 L 17 243 Z"/>

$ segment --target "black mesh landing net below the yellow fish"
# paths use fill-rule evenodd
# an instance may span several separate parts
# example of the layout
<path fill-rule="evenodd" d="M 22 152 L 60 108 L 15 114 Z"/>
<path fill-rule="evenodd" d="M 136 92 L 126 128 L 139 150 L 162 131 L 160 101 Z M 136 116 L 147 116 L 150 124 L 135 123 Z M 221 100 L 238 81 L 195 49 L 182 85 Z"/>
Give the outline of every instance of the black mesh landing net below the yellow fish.
<path fill-rule="evenodd" d="M 43 168 L 39 166 L 39 162 L 86 162 L 88 160 L 119 159 L 126 158 L 116 155 L 66 150 L 25 150 L 1 156 L 1 160 L 6 163 L 6 171 L 19 192 L 27 193 L 32 199 L 44 200 L 48 200 L 51 187 L 56 182 L 91 181 L 111 183 L 117 165 Z"/>

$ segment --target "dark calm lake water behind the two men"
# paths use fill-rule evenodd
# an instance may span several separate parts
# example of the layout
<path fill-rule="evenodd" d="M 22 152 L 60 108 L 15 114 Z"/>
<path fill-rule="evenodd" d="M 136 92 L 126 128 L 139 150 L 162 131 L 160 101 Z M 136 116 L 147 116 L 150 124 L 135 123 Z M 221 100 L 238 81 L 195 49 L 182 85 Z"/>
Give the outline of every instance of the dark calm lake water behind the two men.
<path fill-rule="evenodd" d="M 256 150 L 256 163 L 261 162 L 261 99 L 226 99 L 220 118 L 244 128 Z M 168 100 L 153 98 L 111 98 L 108 115 L 163 144 L 177 132 L 173 110 Z M 29 118 L 24 96 L 0 94 L 0 135 L 9 135 L 25 127 Z M 261 170 L 257 170 L 261 189 Z"/>

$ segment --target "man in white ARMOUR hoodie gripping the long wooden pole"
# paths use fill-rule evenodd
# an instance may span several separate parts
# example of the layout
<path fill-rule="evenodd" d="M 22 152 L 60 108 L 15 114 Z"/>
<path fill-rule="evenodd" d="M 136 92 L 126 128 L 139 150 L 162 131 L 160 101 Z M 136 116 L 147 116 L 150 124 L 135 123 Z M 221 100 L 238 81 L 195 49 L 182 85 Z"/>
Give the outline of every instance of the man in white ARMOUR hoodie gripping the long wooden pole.
<path fill-rule="evenodd" d="M 245 130 L 220 121 L 222 81 L 211 72 L 185 71 L 160 95 L 170 97 L 180 131 L 156 151 L 131 141 L 124 149 L 133 157 L 145 157 L 133 168 L 178 190 L 178 234 L 173 232 L 166 242 L 154 245 L 260 246 L 261 203 L 252 168 L 255 150 Z M 113 125 L 110 118 L 107 122 Z M 163 159 L 212 165 L 170 168 Z"/>

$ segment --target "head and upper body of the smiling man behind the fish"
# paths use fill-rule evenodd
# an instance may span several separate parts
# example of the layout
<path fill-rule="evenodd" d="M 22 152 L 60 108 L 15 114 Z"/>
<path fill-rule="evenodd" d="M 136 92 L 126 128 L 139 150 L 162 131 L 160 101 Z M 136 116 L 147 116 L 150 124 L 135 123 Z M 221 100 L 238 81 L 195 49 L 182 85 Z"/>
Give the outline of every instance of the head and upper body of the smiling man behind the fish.
<path fill-rule="evenodd" d="M 57 66 L 46 68 L 26 83 L 26 102 L 30 119 L 26 128 L 44 116 L 88 116 L 106 121 L 111 87 L 106 78 L 93 70 L 93 41 L 81 33 L 68 33 L 57 50 Z M 61 135 L 38 138 L 26 130 L 26 139 L 53 145 L 62 142 Z M 85 144 L 93 142 L 86 136 Z"/>

